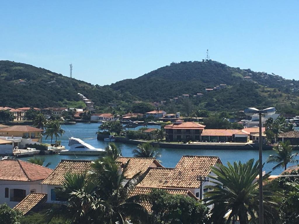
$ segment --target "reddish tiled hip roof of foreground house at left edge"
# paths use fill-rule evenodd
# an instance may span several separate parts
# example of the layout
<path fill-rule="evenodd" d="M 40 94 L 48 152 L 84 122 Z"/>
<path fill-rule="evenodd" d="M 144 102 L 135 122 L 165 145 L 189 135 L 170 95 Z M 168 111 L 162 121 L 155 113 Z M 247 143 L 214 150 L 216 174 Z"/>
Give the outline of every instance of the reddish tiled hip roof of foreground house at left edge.
<path fill-rule="evenodd" d="M 36 181 L 47 178 L 52 169 L 19 159 L 0 160 L 0 180 Z"/>

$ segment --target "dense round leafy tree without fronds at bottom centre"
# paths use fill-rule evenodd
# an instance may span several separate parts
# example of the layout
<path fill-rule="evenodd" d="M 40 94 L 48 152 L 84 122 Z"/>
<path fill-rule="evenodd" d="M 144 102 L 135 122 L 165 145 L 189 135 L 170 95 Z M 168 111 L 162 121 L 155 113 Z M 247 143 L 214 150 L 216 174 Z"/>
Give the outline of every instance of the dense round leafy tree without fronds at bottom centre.
<path fill-rule="evenodd" d="M 168 194 L 161 189 L 153 189 L 148 198 L 152 205 L 150 223 L 208 223 L 208 208 L 194 198 Z"/>

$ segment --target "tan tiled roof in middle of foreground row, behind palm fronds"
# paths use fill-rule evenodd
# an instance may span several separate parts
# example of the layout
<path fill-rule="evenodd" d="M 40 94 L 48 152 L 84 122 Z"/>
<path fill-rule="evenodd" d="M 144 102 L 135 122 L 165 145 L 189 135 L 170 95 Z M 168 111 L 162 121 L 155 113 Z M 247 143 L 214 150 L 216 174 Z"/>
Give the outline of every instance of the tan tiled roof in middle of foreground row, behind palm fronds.
<path fill-rule="evenodd" d="M 155 163 L 157 167 L 163 167 L 156 159 L 153 158 L 118 157 L 116 159 L 116 162 L 122 162 L 123 164 L 126 164 L 129 160 L 130 162 L 128 165 L 128 169 L 124 173 L 124 176 L 127 179 L 134 177 L 134 175 L 138 172 L 144 174 L 147 171 L 147 169 L 152 165 L 152 163 Z"/>

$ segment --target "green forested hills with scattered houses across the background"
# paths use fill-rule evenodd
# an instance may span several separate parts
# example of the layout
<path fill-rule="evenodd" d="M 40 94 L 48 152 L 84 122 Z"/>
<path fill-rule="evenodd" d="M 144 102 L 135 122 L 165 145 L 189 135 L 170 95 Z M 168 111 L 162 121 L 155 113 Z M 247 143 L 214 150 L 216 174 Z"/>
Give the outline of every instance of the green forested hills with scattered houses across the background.
<path fill-rule="evenodd" d="M 25 81 L 25 82 L 24 82 Z M 205 92 L 226 84 L 227 88 Z M 275 74 L 229 67 L 215 61 L 171 63 L 136 79 L 98 86 L 22 63 L 0 61 L 0 106 L 52 107 L 81 105 L 80 92 L 109 111 L 132 111 L 133 101 L 160 102 L 167 112 L 190 113 L 197 109 L 236 111 L 248 106 L 298 110 L 299 82 Z M 203 93 L 202 97 L 193 97 Z M 180 96 L 189 94 L 188 99 Z M 177 102 L 170 101 L 179 97 Z M 137 112 L 137 111 L 134 111 Z"/>

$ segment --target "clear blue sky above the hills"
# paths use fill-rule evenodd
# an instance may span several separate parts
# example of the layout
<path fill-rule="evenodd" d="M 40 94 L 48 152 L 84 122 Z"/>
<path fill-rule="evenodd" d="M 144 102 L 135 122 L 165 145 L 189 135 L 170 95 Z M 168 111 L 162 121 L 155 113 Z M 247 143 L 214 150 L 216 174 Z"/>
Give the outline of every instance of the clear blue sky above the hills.
<path fill-rule="evenodd" d="M 210 59 L 299 79 L 299 1 L 2 1 L 0 60 L 92 84 Z"/>

